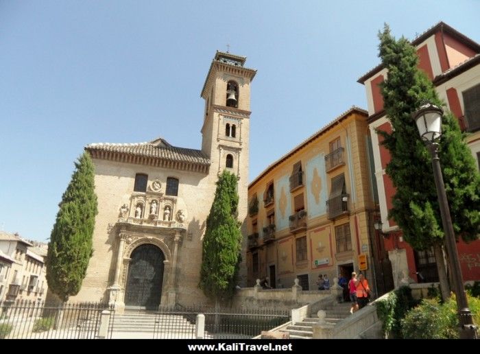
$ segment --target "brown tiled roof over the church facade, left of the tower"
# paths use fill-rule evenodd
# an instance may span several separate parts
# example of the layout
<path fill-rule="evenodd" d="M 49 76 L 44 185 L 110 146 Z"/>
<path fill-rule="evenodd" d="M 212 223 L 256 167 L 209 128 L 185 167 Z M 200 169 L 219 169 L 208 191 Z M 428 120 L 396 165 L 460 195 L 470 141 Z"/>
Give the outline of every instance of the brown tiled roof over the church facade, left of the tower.
<path fill-rule="evenodd" d="M 145 143 L 94 143 L 86 145 L 86 150 L 97 152 L 116 152 L 130 156 L 158 158 L 165 161 L 210 165 L 208 157 L 200 150 L 172 146 L 158 138 Z"/>

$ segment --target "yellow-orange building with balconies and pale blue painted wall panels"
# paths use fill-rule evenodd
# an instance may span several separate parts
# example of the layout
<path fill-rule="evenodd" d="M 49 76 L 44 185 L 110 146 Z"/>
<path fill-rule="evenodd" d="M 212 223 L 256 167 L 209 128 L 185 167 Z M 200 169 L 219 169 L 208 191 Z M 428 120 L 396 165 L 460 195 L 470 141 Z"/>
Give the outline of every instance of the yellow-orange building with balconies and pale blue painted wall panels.
<path fill-rule="evenodd" d="M 374 283 L 367 118 L 352 107 L 250 183 L 249 285 L 269 276 L 272 287 L 289 287 L 298 278 L 303 290 L 316 290 L 319 274 L 333 285 L 353 270 Z"/>

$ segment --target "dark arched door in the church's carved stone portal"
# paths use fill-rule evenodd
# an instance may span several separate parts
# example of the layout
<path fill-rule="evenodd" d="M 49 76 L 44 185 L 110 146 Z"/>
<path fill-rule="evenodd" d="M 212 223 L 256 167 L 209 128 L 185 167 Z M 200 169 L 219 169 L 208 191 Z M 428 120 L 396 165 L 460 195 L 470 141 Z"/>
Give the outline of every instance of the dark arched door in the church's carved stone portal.
<path fill-rule="evenodd" d="M 157 246 L 143 244 L 130 256 L 125 306 L 157 309 L 160 305 L 165 256 Z"/>

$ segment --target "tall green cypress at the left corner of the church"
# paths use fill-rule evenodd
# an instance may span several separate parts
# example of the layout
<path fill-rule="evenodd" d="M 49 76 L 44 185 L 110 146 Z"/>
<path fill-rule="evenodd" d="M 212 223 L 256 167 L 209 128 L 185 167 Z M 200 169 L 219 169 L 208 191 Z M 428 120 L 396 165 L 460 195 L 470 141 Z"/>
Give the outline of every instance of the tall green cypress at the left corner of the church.
<path fill-rule="evenodd" d="M 47 283 L 62 301 L 78 294 L 93 255 L 92 236 L 97 215 L 95 169 L 84 152 L 58 206 L 47 253 Z"/>

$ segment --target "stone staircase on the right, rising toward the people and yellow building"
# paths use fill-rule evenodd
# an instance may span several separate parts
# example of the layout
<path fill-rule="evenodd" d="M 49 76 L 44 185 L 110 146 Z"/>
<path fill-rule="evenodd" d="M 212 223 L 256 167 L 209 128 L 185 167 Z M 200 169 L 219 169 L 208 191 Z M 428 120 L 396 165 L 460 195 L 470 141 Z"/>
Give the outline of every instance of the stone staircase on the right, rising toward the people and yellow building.
<path fill-rule="evenodd" d="M 324 310 L 326 311 L 326 322 L 336 324 L 350 316 L 350 303 L 335 303 L 327 306 Z M 317 314 L 311 314 L 311 317 L 304 318 L 302 322 L 296 322 L 280 331 L 289 333 L 291 339 L 312 339 L 313 325 L 317 322 Z"/>

